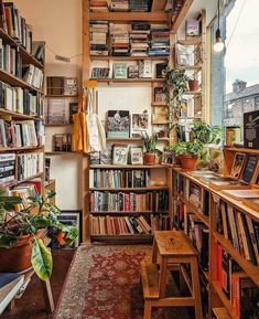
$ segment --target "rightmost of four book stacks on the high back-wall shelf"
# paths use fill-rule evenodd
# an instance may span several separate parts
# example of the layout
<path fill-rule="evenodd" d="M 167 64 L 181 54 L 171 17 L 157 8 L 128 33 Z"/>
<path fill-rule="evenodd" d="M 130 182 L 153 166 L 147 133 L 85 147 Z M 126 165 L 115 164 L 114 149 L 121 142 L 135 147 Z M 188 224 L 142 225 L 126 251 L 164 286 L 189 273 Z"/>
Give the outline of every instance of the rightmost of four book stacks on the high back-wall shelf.
<path fill-rule="evenodd" d="M 170 31 L 165 24 L 151 25 L 151 47 L 150 56 L 169 56 L 170 55 Z"/>

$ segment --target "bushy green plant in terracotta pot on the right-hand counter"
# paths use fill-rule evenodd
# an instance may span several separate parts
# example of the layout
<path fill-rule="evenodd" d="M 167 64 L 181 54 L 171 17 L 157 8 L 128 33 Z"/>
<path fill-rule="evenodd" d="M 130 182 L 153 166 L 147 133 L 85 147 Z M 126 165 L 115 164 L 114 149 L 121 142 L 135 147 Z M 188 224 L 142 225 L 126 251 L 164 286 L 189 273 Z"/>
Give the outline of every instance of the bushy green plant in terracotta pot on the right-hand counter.
<path fill-rule="evenodd" d="M 172 147 L 170 150 L 175 152 L 180 158 L 182 169 L 196 170 L 198 158 L 202 155 L 204 148 L 199 140 L 194 141 L 181 141 Z"/>

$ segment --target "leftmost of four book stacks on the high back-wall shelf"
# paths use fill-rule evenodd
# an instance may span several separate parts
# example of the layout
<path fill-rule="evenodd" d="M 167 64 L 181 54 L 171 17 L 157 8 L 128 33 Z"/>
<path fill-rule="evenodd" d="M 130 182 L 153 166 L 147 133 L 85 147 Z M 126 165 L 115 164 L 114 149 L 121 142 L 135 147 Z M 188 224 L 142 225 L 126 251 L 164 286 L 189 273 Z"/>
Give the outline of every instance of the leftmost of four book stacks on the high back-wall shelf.
<path fill-rule="evenodd" d="M 90 55 L 108 55 L 108 21 L 90 20 Z"/>

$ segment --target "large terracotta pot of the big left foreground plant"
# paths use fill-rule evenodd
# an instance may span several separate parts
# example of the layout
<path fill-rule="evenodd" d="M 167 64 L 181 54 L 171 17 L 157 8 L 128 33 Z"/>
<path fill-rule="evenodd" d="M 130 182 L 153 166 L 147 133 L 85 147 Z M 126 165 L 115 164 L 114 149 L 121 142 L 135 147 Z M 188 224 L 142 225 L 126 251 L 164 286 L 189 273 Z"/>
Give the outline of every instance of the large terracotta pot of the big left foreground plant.
<path fill-rule="evenodd" d="M 36 233 L 37 238 L 42 238 L 45 230 Z M 11 248 L 0 248 L 0 273 L 19 273 L 30 268 L 32 252 L 32 236 L 22 235 L 15 246 Z"/>

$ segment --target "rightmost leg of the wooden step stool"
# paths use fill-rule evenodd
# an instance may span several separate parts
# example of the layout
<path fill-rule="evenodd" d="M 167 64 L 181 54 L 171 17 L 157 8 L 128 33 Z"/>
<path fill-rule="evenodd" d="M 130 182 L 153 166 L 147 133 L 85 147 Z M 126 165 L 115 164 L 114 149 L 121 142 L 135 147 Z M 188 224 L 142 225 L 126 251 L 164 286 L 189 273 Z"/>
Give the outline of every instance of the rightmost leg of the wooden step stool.
<path fill-rule="evenodd" d="M 191 262 L 191 272 L 192 272 L 192 286 L 193 286 L 193 297 L 195 298 L 195 318 L 203 319 L 203 309 L 201 302 L 201 290 L 199 290 L 199 277 L 198 277 L 198 266 L 197 257 L 194 256 Z"/>

